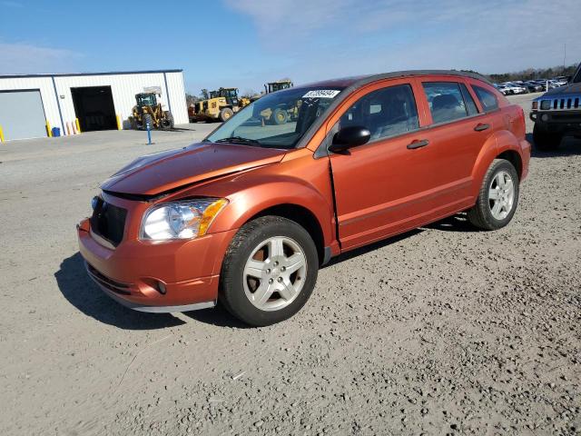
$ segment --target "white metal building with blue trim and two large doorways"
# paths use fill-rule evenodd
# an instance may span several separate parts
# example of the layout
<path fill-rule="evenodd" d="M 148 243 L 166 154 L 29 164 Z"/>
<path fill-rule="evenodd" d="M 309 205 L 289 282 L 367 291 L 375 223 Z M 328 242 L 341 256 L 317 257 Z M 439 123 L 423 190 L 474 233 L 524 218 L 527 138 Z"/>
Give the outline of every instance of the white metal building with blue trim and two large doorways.
<path fill-rule="evenodd" d="M 0 75 L 0 127 L 5 140 L 128 128 L 135 94 L 161 90 L 175 124 L 188 123 L 182 70 Z"/>

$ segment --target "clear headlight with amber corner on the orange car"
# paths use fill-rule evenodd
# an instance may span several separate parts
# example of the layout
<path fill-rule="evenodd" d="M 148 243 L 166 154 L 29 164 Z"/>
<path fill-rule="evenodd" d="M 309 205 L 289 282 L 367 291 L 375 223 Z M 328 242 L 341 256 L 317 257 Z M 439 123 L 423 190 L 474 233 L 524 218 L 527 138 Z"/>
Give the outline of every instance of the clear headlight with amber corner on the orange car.
<path fill-rule="evenodd" d="M 226 204 L 225 198 L 200 198 L 153 206 L 143 217 L 140 239 L 168 241 L 202 236 Z"/>

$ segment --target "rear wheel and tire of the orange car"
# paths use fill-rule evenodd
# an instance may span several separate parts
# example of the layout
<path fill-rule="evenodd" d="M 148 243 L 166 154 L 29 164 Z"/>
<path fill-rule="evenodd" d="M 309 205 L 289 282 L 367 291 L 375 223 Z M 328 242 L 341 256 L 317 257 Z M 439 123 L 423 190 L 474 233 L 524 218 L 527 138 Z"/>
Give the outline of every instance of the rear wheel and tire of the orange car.
<path fill-rule="evenodd" d="M 512 220 L 518 203 L 518 174 L 512 163 L 495 159 L 482 181 L 468 221 L 482 230 L 501 229 Z"/>

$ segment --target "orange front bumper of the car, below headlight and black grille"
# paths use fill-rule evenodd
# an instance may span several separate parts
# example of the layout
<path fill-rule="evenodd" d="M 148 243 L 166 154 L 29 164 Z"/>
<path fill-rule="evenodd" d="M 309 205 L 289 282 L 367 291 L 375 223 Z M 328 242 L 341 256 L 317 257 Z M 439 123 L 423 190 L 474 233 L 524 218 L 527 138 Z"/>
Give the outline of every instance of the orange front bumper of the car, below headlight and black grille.
<path fill-rule="evenodd" d="M 77 226 L 87 272 L 103 292 L 142 312 L 185 312 L 215 305 L 222 258 L 235 230 L 188 241 L 143 242 L 137 237 L 140 220 L 132 224 L 132 214 L 142 216 L 142 208 L 132 209 L 125 200 L 108 201 L 128 209 L 122 243 L 105 246 L 91 232 L 88 219 Z"/>

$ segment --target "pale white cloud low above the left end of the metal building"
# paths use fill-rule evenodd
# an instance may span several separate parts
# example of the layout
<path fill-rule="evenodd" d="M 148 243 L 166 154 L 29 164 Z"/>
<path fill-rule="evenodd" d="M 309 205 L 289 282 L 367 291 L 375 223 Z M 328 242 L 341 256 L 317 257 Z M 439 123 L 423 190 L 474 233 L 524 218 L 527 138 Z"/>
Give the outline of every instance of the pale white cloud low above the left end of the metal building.
<path fill-rule="evenodd" d="M 81 56 L 71 50 L 0 41 L 0 74 L 64 73 L 74 71 Z"/>

